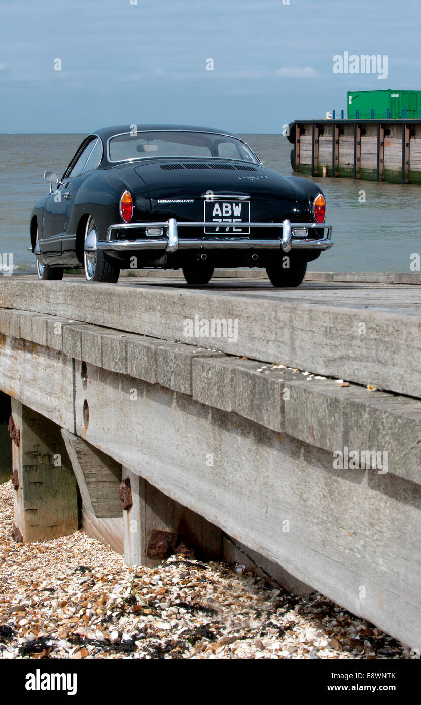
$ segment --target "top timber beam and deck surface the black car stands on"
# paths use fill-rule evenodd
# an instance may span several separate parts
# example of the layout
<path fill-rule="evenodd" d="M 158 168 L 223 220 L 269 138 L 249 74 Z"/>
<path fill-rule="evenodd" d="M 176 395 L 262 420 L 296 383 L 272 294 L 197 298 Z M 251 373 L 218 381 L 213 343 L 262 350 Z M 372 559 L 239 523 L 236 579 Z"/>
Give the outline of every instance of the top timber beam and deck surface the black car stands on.
<path fill-rule="evenodd" d="M 195 289 L 165 279 L 91 286 L 78 278 L 44 285 L 13 277 L 0 282 L 0 307 L 216 345 L 230 355 L 421 396 L 421 286 L 312 282 L 276 290 L 237 279 Z M 195 317 L 237 321 L 236 339 L 216 339 L 205 329 L 185 336 L 184 321 Z"/>

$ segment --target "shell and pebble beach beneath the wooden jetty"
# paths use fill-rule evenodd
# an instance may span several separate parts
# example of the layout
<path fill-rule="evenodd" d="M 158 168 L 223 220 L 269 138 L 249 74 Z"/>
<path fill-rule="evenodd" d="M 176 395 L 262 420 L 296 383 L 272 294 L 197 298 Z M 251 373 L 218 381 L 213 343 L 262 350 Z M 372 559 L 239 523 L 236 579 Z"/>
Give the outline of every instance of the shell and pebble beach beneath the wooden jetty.
<path fill-rule="evenodd" d="M 81 530 L 16 544 L 12 523 L 7 482 L 0 485 L 2 659 L 411 658 L 321 594 L 293 596 L 243 565 L 177 556 L 129 568 Z"/>

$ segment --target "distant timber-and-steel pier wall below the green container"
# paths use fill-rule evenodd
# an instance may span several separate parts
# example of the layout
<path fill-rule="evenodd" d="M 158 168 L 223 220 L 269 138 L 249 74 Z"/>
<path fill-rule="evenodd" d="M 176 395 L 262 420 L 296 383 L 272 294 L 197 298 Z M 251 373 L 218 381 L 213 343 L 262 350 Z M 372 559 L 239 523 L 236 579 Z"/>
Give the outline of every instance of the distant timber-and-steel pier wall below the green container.
<path fill-rule="evenodd" d="M 421 183 L 421 119 L 295 120 L 288 140 L 303 176 Z"/>

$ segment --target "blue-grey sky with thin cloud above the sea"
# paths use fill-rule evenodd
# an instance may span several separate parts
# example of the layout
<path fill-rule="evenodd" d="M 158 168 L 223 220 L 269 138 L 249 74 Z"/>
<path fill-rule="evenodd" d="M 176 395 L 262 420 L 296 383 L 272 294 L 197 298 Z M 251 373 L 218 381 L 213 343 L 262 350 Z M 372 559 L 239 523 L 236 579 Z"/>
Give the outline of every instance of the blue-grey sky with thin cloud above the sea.
<path fill-rule="evenodd" d="M 420 18 L 420 0 L 0 0 L 0 133 L 280 133 L 348 90 L 421 89 Z M 334 73 L 346 51 L 387 77 Z"/>

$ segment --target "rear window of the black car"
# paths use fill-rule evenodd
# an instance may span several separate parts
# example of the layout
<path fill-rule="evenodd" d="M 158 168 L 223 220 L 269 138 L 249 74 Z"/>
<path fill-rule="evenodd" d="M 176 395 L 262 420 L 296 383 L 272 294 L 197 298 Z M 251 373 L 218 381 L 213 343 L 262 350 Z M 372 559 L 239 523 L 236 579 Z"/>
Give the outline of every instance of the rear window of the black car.
<path fill-rule="evenodd" d="M 154 130 L 116 135 L 108 141 L 109 161 L 151 157 L 199 157 L 237 159 L 260 164 L 245 142 L 213 133 Z"/>

